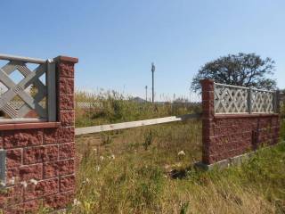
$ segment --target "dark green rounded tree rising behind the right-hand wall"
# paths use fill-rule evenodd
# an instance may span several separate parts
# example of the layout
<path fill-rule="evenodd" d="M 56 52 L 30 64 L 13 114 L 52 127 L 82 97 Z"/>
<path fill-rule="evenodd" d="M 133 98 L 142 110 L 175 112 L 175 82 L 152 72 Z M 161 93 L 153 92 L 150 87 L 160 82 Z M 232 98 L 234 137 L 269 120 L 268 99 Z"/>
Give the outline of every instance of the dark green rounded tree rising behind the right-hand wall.
<path fill-rule="evenodd" d="M 222 84 L 274 89 L 276 80 L 270 78 L 274 63 L 271 58 L 262 59 L 256 53 L 228 54 L 201 67 L 192 79 L 191 88 L 197 92 L 200 89 L 199 80 L 211 78 Z"/>

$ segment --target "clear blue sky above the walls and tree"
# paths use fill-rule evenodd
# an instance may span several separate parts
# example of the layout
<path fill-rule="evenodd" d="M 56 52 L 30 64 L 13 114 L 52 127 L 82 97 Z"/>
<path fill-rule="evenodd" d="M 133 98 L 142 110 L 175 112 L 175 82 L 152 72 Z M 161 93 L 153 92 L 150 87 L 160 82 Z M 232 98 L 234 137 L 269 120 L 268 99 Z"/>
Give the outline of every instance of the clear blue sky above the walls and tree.
<path fill-rule="evenodd" d="M 191 78 L 228 53 L 276 62 L 285 88 L 284 0 L 1 1 L 0 53 L 79 58 L 76 86 L 144 97 L 189 95 Z"/>

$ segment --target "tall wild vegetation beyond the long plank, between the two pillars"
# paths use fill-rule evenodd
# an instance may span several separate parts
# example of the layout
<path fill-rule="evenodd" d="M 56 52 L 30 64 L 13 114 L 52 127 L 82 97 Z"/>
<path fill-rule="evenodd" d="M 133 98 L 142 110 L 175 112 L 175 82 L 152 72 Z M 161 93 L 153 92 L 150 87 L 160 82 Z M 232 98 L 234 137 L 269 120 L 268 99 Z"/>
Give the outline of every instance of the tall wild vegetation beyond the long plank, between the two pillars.
<path fill-rule="evenodd" d="M 199 104 L 137 102 L 131 96 L 121 95 L 114 91 L 102 91 L 97 94 L 77 91 L 76 102 L 77 127 L 183 115 L 200 111 Z"/>

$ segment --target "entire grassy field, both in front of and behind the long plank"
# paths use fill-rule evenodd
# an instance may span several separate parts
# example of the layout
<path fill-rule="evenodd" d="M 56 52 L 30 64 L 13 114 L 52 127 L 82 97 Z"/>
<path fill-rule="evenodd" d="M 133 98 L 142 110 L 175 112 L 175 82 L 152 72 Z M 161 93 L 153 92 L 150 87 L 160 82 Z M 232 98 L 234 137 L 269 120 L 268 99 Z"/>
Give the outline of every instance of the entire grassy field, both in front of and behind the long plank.
<path fill-rule="evenodd" d="M 77 127 L 199 111 L 117 98 L 77 110 Z M 199 120 L 77 136 L 76 144 L 82 161 L 69 213 L 285 213 L 284 143 L 208 172 L 192 167 L 201 158 Z"/>

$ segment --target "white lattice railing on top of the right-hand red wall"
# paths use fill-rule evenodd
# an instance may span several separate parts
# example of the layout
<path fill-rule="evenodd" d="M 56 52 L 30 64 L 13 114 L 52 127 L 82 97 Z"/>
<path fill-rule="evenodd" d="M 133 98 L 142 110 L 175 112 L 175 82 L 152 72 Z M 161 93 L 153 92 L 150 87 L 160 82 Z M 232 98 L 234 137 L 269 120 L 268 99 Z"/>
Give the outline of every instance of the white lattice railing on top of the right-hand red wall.
<path fill-rule="evenodd" d="M 273 113 L 278 95 L 276 91 L 215 83 L 214 102 L 216 114 Z"/>

